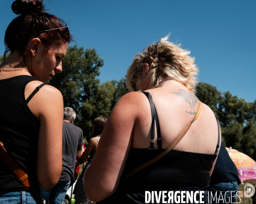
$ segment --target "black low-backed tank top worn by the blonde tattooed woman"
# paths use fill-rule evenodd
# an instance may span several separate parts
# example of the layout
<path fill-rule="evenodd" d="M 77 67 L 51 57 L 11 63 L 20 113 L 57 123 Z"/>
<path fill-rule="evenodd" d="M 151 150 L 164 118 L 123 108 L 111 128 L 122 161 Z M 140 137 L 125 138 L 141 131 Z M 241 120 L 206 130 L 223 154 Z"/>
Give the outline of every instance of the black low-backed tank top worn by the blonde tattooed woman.
<path fill-rule="evenodd" d="M 159 147 L 161 146 L 159 145 L 161 142 L 161 133 L 157 111 L 151 95 L 148 92 L 143 93 L 148 97 L 151 110 L 154 110 L 156 115 L 155 122 Z M 154 127 L 154 118 L 152 119 L 152 127 Z M 154 138 L 154 131 L 152 131 L 151 138 Z M 155 158 L 165 150 L 161 147 L 153 148 L 153 146 L 154 142 L 151 142 L 150 147 L 145 149 L 131 147 L 116 192 L 97 203 L 141 204 L 145 202 L 145 191 L 185 190 L 195 192 L 197 190 L 207 190 L 210 182 L 209 170 L 212 168 L 212 162 L 216 159 L 218 144 L 214 154 L 171 150 L 163 158 L 122 181 L 122 178 L 131 170 Z"/>

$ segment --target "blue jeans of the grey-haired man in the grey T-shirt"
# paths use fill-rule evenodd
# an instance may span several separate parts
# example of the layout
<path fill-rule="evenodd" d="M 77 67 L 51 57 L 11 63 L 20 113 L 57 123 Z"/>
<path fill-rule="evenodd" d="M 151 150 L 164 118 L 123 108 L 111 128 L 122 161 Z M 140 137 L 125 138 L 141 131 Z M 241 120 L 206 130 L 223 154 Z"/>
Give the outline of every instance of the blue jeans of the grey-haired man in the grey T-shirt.
<path fill-rule="evenodd" d="M 58 181 L 50 190 L 44 190 L 44 188 L 40 186 L 41 198 L 45 200 L 46 204 L 48 201 L 50 201 L 50 204 L 62 204 L 69 186 L 70 181 Z"/>

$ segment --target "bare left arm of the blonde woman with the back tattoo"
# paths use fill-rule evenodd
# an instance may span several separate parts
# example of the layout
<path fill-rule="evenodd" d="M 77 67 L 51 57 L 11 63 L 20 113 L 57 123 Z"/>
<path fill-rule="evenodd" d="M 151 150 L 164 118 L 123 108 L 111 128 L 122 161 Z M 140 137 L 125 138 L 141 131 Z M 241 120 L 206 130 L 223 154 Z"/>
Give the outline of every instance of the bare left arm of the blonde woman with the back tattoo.
<path fill-rule="evenodd" d="M 129 93 L 117 102 L 103 130 L 96 155 L 84 176 L 88 198 L 100 201 L 113 194 L 125 167 L 137 118 L 140 93 Z"/>

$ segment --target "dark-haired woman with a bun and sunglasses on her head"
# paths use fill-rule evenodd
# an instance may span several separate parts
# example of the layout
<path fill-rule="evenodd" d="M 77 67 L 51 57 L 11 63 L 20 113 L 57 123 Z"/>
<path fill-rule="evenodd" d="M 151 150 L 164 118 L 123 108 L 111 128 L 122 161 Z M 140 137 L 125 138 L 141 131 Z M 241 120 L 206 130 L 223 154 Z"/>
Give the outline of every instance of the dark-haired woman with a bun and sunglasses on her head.
<path fill-rule="evenodd" d="M 27 173 L 36 190 L 50 189 L 62 170 L 63 99 L 45 85 L 62 71 L 71 40 L 68 27 L 44 11 L 42 0 L 16 0 L 18 16 L 6 29 L 0 65 L 0 141 Z M 34 91 L 35 90 L 35 91 Z M 29 190 L 0 159 L 0 203 L 35 202 Z"/>

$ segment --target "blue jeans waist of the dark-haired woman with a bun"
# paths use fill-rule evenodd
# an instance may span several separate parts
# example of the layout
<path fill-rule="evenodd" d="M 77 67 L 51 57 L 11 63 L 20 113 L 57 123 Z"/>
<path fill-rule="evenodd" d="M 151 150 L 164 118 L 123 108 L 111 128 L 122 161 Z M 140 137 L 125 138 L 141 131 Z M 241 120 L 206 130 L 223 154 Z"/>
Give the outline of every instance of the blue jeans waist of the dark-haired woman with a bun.
<path fill-rule="evenodd" d="M 36 204 L 29 192 L 0 192 L 0 204 Z"/>

